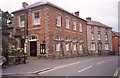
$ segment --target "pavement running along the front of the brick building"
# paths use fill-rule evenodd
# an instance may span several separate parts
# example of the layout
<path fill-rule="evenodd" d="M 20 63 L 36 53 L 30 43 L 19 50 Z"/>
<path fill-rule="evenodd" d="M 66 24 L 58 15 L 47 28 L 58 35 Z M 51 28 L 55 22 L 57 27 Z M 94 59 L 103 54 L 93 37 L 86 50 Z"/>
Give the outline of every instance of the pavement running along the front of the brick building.
<path fill-rule="evenodd" d="M 37 59 L 35 57 L 30 57 L 28 63 L 8 66 L 5 69 L 2 69 L 2 75 L 22 75 L 22 74 L 36 74 L 44 72 L 50 69 L 53 69 L 58 66 L 71 64 L 75 61 L 86 61 L 88 59 L 101 58 L 106 56 L 86 56 L 86 57 L 75 57 L 68 59 L 59 59 L 59 60 L 44 60 Z M 109 56 L 107 56 L 109 57 Z"/>

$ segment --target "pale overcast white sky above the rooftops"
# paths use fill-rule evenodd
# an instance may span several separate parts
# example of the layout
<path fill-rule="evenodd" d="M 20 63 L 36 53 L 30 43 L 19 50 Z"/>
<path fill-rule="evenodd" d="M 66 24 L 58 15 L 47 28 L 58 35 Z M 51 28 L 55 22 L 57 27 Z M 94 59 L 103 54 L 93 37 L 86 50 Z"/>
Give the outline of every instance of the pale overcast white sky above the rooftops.
<path fill-rule="evenodd" d="M 22 2 L 29 5 L 41 0 L 1 0 L 2 11 L 10 13 L 22 8 Z M 80 18 L 91 17 L 94 21 L 99 21 L 118 31 L 118 2 L 119 0 L 47 0 L 70 13 L 80 12 Z"/>

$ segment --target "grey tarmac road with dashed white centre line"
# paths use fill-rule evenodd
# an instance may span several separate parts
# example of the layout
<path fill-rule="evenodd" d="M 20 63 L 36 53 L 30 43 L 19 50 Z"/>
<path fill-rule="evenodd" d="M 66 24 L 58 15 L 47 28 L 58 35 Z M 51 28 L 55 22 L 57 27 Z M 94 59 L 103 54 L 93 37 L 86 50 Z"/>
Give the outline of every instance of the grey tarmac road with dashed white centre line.
<path fill-rule="evenodd" d="M 40 72 L 40 76 L 113 76 L 118 68 L 118 57 L 90 58 Z"/>

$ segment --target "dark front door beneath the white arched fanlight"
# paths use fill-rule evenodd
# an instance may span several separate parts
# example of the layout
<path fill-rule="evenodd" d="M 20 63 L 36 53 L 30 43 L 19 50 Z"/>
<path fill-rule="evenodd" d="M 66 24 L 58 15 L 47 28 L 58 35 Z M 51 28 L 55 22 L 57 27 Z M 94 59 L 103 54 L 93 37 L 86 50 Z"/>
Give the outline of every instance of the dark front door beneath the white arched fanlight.
<path fill-rule="evenodd" d="M 37 56 L 37 41 L 30 42 L 30 56 Z"/>

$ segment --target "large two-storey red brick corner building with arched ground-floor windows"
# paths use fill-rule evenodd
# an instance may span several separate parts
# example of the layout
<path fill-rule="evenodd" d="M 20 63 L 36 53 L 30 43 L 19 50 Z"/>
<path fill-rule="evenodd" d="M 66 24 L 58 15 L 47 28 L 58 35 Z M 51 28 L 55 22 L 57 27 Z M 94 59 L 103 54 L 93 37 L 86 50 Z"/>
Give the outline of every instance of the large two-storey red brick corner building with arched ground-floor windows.
<path fill-rule="evenodd" d="M 79 17 L 79 12 L 69 13 L 50 2 L 32 5 L 24 2 L 23 7 L 13 12 L 14 30 L 15 34 L 21 35 L 19 47 L 23 47 L 24 26 L 28 26 L 28 55 L 66 57 L 85 53 L 87 26 L 86 21 Z"/>

